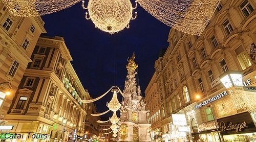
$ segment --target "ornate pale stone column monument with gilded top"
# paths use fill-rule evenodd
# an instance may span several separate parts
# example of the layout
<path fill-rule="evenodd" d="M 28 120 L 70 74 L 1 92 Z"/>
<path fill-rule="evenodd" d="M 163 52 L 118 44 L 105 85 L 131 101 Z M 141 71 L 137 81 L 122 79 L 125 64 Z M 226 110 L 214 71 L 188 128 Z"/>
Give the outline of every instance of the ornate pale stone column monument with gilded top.
<path fill-rule="evenodd" d="M 136 84 L 137 67 L 135 54 L 133 54 L 126 65 L 128 73 L 118 123 L 120 126 L 118 141 L 151 141 L 151 124 L 147 121 L 149 111 L 145 109 L 146 104 L 141 97 L 140 86 Z"/>

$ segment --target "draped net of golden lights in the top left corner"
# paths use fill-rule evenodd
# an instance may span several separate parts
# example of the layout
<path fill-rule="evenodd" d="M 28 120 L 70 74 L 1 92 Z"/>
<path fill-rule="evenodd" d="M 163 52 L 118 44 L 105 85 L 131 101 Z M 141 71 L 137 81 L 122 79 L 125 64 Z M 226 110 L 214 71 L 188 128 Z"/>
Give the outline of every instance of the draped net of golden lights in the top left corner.
<path fill-rule="evenodd" d="M 2 2 L 13 15 L 32 17 L 66 9 L 80 0 L 2 0 Z"/>

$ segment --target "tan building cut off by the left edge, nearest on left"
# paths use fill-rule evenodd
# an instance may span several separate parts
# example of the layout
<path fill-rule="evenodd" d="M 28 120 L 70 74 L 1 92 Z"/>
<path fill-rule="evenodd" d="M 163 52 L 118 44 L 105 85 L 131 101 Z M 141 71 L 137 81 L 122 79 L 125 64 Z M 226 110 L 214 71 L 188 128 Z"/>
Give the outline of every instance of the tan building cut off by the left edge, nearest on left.
<path fill-rule="evenodd" d="M 11 94 L 0 98 L 0 120 L 9 110 L 39 35 L 46 33 L 44 24 L 40 17 L 15 17 L 0 2 L 0 91 L 11 87 Z"/>

